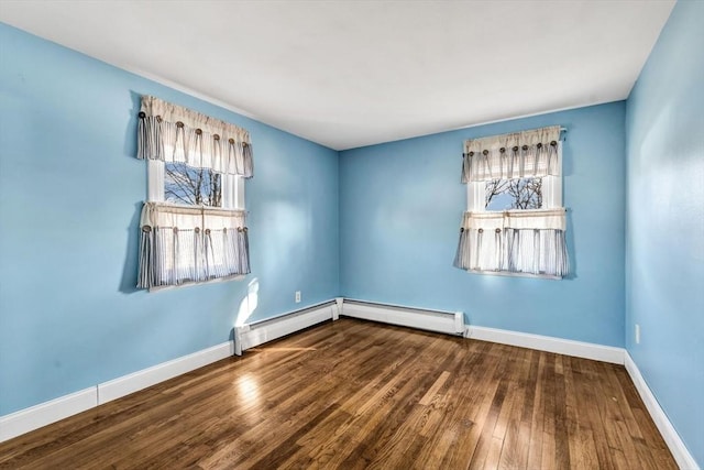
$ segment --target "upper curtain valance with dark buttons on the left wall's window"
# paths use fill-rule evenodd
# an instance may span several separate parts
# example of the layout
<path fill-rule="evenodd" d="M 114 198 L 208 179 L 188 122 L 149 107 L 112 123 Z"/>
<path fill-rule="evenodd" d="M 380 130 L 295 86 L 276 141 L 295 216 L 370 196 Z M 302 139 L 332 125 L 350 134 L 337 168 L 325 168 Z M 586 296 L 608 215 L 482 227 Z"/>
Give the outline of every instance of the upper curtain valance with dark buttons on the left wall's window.
<path fill-rule="evenodd" d="M 138 157 L 185 163 L 245 178 L 254 174 L 246 130 L 152 96 L 142 97 Z"/>

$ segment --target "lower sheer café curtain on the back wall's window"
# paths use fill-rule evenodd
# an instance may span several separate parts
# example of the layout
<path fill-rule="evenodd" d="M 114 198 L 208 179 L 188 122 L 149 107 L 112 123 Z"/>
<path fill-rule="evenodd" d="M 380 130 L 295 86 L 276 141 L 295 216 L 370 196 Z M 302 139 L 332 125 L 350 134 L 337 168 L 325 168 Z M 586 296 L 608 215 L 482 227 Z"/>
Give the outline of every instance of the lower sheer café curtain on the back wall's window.
<path fill-rule="evenodd" d="M 464 212 L 454 266 L 563 277 L 570 262 L 564 209 Z"/>

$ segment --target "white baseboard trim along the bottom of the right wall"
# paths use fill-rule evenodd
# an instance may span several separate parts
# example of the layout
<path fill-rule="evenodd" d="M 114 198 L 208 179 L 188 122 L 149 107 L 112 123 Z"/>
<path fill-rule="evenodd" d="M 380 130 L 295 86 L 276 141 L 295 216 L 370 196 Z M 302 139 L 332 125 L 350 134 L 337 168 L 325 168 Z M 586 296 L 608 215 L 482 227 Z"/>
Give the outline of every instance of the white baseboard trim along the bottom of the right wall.
<path fill-rule="evenodd" d="M 668 418 L 668 415 L 658 403 L 658 398 L 652 394 L 652 391 L 640 374 L 638 365 L 636 365 L 628 351 L 626 351 L 625 358 L 625 365 L 628 371 L 628 375 L 630 375 L 630 380 L 632 380 L 636 385 L 636 390 L 640 394 L 640 398 L 646 404 L 646 408 L 648 408 L 650 417 L 652 417 L 652 420 L 656 423 L 658 430 L 662 435 L 662 438 L 672 452 L 678 466 L 680 466 L 682 470 L 698 470 L 700 467 L 696 464 L 696 460 L 694 460 L 694 457 L 692 457 L 676 429 L 672 426 L 670 418 Z"/>

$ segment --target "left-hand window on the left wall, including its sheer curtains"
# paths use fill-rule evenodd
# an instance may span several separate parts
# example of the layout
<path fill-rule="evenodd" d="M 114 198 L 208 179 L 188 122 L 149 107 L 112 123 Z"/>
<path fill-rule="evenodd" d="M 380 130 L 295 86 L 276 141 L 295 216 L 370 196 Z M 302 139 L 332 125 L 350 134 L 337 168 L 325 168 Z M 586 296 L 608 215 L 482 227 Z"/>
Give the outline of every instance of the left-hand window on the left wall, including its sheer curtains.
<path fill-rule="evenodd" d="M 158 288 L 250 273 L 244 181 L 249 133 L 142 97 L 138 157 L 147 160 L 138 287 Z"/>

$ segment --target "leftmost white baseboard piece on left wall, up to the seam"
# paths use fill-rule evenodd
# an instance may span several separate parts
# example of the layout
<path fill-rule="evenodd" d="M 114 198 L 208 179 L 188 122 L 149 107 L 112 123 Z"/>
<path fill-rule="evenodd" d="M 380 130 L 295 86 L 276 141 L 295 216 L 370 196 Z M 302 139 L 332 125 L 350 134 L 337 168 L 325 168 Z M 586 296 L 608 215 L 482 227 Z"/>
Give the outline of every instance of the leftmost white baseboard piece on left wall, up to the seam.
<path fill-rule="evenodd" d="M 0 417 L 0 442 L 56 423 L 98 405 L 98 389 L 91 386 Z"/>

